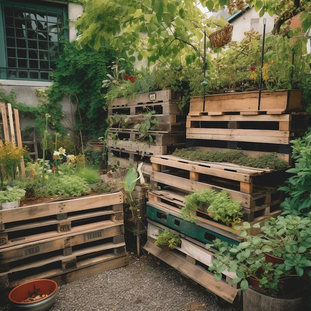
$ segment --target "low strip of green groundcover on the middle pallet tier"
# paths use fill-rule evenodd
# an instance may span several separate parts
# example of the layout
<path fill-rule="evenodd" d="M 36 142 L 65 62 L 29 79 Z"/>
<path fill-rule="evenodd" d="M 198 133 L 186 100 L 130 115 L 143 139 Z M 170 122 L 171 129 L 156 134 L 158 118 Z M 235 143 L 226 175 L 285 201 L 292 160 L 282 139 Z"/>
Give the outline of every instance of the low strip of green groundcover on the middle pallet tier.
<path fill-rule="evenodd" d="M 172 155 L 184 157 L 192 161 L 230 162 L 258 168 L 285 169 L 288 167 L 288 163 L 274 153 L 253 158 L 243 154 L 241 150 L 205 152 L 202 150 L 179 149 Z"/>

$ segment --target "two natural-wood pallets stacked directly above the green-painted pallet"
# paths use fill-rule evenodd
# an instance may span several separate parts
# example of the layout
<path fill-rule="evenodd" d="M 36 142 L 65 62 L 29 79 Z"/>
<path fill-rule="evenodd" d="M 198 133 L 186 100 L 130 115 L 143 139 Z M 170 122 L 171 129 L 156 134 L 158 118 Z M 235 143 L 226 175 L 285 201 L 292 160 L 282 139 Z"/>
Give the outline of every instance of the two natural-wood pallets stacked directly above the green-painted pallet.
<path fill-rule="evenodd" d="M 281 212 L 279 205 L 283 201 L 283 192 L 277 190 L 274 182 L 278 184 L 285 179 L 284 171 L 191 161 L 167 155 L 152 156 L 151 162 L 152 191 L 149 198 L 157 203 L 165 202 L 170 196 L 174 204 L 182 206 L 183 196 L 175 196 L 176 189 L 190 194 L 197 189 L 213 188 L 226 190 L 233 200 L 241 202 L 244 221 L 252 222 Z"/>

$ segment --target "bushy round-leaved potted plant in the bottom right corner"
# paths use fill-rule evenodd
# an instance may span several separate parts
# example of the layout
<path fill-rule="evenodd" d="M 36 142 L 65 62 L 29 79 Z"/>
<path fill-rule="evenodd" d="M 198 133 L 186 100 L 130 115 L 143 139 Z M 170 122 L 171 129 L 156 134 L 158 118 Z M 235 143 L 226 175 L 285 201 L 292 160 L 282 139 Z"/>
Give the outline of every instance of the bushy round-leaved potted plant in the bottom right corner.
<path fill-rule="evenodd" d="M 248 229 L 250 229 L 250 224 L 243 223 L 243 233 L 246 233 Z M 259 297 L 263 295 L 277 298 L 277 304 L 284 304 L 281 307 L 284 309 L 276 310 L 303 310 L 302 306 L 307 304 L 304 294 L 311 285 L 310 234 L 311 220 L 309 218 L 293 216 L 271 218 L 265 222 L 260 234 L 247 235 L 245 240 L 237 245 L 230 245 L 220 239 L 214 240 L 213 245 L 207 245 L 210 249 L 216 248 L 215 259 L 209 270 L 215 273 L 214 278 L 217 281 L 221 280 L 225 269 L 235 272 L 233 284 L 239 283 L 241 290 L 245 293 L 248 291 L 248 294 L 251 292 L 254 295 L 258 294 Z M 281 239 L 280 236 L 282 236 Z M 280 248 L 282 243 L 284 247 Z M 277 248 L 283 249 L 285 261 L 283 263 L 268 262 L 265 252 L 272 252 Z M 289 277 L 291 279 L 287 283 Z M 257 286 L 254 286 L 252 280 L 257 281 Z M 285 297 L 287 299 L 283 302 Z M 291 305 L 288 302 L 290 297 L 295 300 L 299 299 L 296 302 L 298 309 L 287 309 L 288 305 Z M 264 310 L 273 309 L 275 309 L 273 306 L 267 306 Z"/>

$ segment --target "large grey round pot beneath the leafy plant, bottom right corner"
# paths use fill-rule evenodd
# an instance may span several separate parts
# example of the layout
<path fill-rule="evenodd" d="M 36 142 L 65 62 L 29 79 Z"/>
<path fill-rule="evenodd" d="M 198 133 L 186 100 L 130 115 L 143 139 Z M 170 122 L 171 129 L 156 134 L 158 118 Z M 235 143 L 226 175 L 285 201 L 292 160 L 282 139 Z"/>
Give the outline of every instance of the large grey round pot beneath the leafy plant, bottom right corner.
<path fill-rule="evenodd" d="M 303 297 L 280 299 L 266 296 L 251 288 L 243 293 L 243 311 L 301 311 L 308 310 Z"/>

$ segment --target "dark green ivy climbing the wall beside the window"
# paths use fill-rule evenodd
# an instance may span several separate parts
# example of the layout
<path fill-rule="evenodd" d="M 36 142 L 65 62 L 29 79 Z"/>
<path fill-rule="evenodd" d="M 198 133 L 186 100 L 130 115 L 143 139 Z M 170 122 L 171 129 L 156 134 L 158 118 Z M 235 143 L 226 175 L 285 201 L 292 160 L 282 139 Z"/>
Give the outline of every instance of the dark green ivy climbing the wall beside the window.
<path fill-rule="evenodd" d="M 53 85 L 48 92 L 47 108 L 49 111 L 51 106 L 57 108 L 62 96 L 70 95 L 73 108 L 77 106 L 76 129 L 80 129 L 85 137 L 102 136 L 106 129 L 106 113 L 101 81 L 113 58 L 111 49 L 101 46 L 98 51 L 88 47 L 78 50 L 75 42 L 66 40 L 63 45 L 57 70 L 53 74 Z M 56 111 L 56 115 L 61 118 L 59 111 Z"/>

